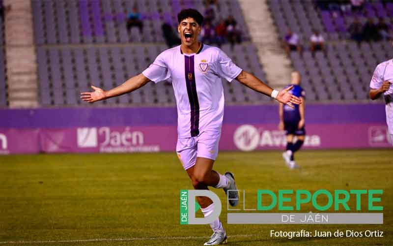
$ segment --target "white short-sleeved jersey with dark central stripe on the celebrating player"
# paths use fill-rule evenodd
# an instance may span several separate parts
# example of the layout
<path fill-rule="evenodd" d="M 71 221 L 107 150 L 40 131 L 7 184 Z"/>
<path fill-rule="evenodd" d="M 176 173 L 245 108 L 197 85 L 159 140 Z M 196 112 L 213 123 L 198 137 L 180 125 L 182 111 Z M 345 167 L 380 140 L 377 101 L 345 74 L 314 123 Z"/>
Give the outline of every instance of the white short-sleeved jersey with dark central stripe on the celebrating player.
<path fill-rule="evenodd" d="M 196 137 L 205 130 L 221 131 L 224 90 L 221 77 L 231 82 L 242 69 L 219 48 L 201 44 L 195 54 L 180 45 L 161 53 L 142 73 L 154 83 L 171 81 L 177 104 L 179 138 Z"/>

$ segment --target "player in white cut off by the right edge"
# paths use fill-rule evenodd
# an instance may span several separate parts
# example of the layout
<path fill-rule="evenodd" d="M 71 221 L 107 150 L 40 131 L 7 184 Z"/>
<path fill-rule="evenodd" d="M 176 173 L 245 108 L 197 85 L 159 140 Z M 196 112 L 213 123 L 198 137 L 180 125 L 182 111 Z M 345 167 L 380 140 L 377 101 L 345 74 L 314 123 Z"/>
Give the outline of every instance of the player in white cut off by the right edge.
<path fill-rule="evenodd" d="M 386 123 L 393 144 L 393 60 L 381 62 L 375 68 L 370 81 L 370 98 L 375 100 L 382 94 L 385 99 Z"/>

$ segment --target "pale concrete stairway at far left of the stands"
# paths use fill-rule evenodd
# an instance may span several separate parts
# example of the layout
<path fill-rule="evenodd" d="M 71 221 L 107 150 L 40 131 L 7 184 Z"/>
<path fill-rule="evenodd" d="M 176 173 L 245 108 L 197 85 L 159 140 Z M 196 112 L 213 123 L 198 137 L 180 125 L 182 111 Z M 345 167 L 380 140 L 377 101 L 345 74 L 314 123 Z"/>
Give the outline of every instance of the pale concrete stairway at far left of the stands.
<path fill-rule="evenodd" d="M 5 0 L 6 71 L 10 107 L 38 106 L 37 68 L 31 2 Z"/>

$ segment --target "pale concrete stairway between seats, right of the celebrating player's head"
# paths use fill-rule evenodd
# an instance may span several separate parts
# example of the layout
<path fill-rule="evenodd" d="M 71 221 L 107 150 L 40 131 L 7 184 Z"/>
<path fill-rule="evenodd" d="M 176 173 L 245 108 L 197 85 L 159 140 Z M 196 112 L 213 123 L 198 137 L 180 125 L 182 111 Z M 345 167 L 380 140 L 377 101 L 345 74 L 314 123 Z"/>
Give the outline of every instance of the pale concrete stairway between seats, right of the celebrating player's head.
<path fill-rule="evenodd" d="M 273 88 L 282 88 L 289 83 L 292 66 L 277 42 L 279 34 L 275 29 L 267 1 L 262 0 L 255 4 L 254 1 L 239 0 L 239 3 L 269 85 Z"/>

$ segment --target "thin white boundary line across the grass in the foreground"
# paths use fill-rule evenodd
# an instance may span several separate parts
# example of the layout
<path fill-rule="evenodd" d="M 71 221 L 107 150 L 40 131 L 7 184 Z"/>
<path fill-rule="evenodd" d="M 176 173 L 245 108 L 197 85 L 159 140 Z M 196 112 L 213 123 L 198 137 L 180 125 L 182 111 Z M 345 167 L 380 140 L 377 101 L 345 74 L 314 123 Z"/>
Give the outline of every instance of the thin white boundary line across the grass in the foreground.
<path fill-rule="evenodd" d="M 248 238 L 257 235 L 231 235 L 228 238 Z M 0 242 L 4 244 L 52 244 L 52 243 L 89 243 L 89 242 L 112 242 L 112 241 L 145 241 L 145 240 L 177 240 L 177 239 L 203 239 L 209 237 L 156 237 L 156 238 L 95 238 L 95 239 L 80 239 L 80 240 L 48 240 L 48 241 L 6 241 Z"/>

